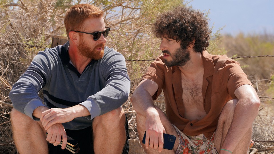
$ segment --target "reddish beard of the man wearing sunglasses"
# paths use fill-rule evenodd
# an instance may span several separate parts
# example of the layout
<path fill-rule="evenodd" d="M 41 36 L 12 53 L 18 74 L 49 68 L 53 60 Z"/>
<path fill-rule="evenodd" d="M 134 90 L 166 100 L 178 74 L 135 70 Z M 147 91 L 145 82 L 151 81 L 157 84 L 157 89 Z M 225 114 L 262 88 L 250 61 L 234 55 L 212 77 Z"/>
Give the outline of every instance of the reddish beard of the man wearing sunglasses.
<path fill-rule="evenodd" d="M 96 48 L 102 47 L 101 51 L 97 51 Z M 80 42 L 77 47 L 80 54 L 85 57 L 92 58 L 94 60 L 99 60 L 104 56 L 104 47 L 105 44 L 97 44 L 93 49 L 89 48 L 83 41 Z"/>

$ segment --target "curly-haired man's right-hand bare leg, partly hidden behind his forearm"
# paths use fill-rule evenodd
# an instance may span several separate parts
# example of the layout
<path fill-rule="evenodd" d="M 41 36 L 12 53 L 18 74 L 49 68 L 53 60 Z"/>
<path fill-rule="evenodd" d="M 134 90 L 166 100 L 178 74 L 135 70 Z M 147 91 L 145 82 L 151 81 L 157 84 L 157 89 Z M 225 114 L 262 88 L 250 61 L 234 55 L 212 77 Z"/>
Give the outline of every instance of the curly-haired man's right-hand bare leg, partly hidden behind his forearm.
<path fill-rule="evenodd" d="M 237 104 L 238 100 L 233 99 L 227 102 L 227 104 L 224 106 L 221 115 L 219 117 L 218 121 L 218 126 L 215 131 L 215 136 L 214 136 L 214 145 L 217 149 L 217 151 L 220 150 L 221 145 L 223 144 L 223 141 L 225 139 L 225 136 L 228 132 L 228 129 L 231 125 L 232 119 L 233 119 L 233 114 L 234 114 L 234 108 Z M 239 144 L 237 147 L 234 149 L 233 153 L 247 153 L 248 147 L 250 144 L 252 136 L 252 127 L 248 129 L 247 132 L 245 132 L 245 135 L 243 138 L 239 141 Z"/>

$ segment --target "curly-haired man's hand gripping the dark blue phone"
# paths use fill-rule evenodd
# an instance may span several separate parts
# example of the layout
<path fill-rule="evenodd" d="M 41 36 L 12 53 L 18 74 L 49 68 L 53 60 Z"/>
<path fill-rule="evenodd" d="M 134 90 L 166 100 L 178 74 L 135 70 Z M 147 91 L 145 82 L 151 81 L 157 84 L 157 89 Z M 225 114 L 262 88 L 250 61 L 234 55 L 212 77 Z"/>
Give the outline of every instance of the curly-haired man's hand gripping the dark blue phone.
<path fill-rule="evenodd" d="M 162 125 L 160 117 L 157 114 L 150 114 L 146 117 L 146 149 L 158 149 L 159 152 L 163 150 L 164 134 L 166 130 Z"/>

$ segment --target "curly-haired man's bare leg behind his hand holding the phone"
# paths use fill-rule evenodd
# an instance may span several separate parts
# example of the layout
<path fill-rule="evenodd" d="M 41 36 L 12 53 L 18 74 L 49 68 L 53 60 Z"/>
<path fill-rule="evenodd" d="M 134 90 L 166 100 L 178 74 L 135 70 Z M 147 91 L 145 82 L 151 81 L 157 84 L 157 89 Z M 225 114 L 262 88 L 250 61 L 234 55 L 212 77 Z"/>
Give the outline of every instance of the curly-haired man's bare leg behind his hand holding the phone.
<path fill-rule="evenodd" d="M 162 112 L 162 110 L 159 109 L 158 107 L 156 107 L 156 109 L 159 112 L 160 119 L 161 119 L 161 122 L 162 122 L 165 130 L 166 130 L 166 133 L 176 136 L 176 141 L 175 141 L 173 150 L 163 149 L 161 153 L 164 153 L 164 154 L 176 153 L 176 151 L 178 149 L 178 146 L 179 146 L 178 133 L 177 133 L 176 129 L 173 127 L 173 125 L 170 123 L 170 121 L 167 119 L 166 115 Z M 136 121 L 137 121 L 137 130 L 138 130 L 138 133 L 139 133 L 139 139 L 140 139 L 142 147 L 144 148 L 146 153 L 159 153 L 158 150 L 154 150 L 154 149 L 151 149 L 151 148 L 146 149 L 145 145 L 142 143 L 144 133 L 146 131 L 146 127 L 145 127 L 146 117 L 144 117 L 140 114 L 137 114 L 136 115 Z"/>

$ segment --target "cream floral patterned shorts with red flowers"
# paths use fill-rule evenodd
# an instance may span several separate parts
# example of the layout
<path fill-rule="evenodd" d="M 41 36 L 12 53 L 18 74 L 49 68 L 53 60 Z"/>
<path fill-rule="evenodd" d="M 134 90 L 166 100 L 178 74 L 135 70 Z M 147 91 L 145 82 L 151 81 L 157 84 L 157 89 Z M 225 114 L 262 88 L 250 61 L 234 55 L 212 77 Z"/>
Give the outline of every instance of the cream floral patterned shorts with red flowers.
<path fill-rule="evenodd" d="M 179 147 L 176 154 L 218 154 L 214 147 L 214 135 L 207 139 L 204 134 L 188 136 L 174 126 L 179 135 Z"/>

